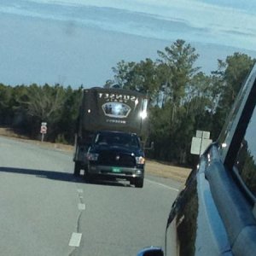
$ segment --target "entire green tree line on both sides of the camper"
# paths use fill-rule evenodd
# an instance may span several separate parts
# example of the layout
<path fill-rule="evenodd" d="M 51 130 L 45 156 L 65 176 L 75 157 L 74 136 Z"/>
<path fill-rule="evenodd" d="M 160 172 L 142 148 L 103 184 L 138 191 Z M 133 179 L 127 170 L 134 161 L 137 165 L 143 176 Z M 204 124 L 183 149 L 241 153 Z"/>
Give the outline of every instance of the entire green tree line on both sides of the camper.
<path fill-rule="evenodd" d="M 113 79 L 103 86 L 147 94 L 149 140 L 154 141 L 148 156 L 191 165 L 194 158 L 189 151 L 195 131 L 210 131 L 213 140 L 218 138 L 255 59 L 235 52 L 217 60 L 217 70 L 207 75 L 195 66 L 199 55 L 184 40 L 177 39 L 157 53 L 156 60 L 119 61 L 113 67 Z M 82 90 L 83 86 L 73 89 L 60 84 L 0 84 L 0 125 L 38 138 L 44 121 L 48 123 L 47 140 L 73 143 Z"/>

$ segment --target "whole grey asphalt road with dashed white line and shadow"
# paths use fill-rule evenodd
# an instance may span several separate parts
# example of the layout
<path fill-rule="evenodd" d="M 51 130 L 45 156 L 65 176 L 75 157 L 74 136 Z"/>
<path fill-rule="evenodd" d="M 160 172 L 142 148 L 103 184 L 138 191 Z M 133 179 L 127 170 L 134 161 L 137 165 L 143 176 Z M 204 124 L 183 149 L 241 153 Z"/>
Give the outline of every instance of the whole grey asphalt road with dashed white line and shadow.
<path fill-rule="evenodd" d="M 163 246 L 180 186 L 146 174 L 127 182 L 73 177 L 72 154 L 0 137 L 1 255 L 136 255 Z"/>

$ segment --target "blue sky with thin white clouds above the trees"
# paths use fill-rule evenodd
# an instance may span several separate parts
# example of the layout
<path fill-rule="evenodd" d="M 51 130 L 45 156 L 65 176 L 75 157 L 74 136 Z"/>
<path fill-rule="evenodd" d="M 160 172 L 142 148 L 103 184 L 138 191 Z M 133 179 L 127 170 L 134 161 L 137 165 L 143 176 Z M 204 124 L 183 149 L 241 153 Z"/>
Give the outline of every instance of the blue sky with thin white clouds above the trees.
<path fill-rule="evenodd" d="M 255 24 L 255 0 L 1 0 L 0 83 L 102 86 L 177 38 L 210 73 L 235 51 L 256 57 Z"/>

